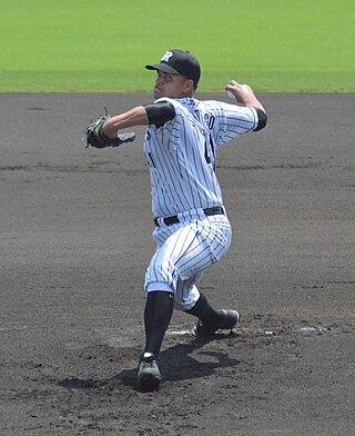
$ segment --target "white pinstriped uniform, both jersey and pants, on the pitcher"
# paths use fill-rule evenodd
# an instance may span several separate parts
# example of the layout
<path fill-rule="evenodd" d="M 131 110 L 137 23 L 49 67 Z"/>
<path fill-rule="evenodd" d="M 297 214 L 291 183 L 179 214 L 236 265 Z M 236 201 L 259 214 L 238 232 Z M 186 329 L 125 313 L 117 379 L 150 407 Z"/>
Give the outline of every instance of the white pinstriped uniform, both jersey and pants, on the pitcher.
<path fill-rule="evenodd" d="M 203 209 L 223 206 L 215 176 L 217 148 L 257 127 L 253 108 L 217 101 L 161 99 L 174 105 L 175 118 L 149 126 L 144 153 L 151 172 L 155 217 L 178 215 L 180 222 L 160 219 L 153 237 L 156 251 L 145 274 L 148 291 L 175 294 L 175 306 L 187 310 L 199 299 L 195 286 L 203 270 L 227 251 L 232 230 L 225 215 L 205 217 Z"/>

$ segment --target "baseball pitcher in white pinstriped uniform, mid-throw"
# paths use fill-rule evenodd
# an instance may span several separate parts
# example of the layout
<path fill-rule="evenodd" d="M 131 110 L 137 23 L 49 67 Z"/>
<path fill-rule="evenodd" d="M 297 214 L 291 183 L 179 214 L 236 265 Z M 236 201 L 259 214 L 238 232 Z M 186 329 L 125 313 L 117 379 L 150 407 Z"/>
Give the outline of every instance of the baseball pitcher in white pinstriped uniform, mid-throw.
<path fill-rule="evenodd" d="M 169 50 L 160 62 L 145 68 L 156 71 L 154 102 L 100 118 L 89 126 L 87 137 L 88 145 L 116 147 L 134 139 L 134 133 L 121 129 L 148 126 L 144 155 L 156 251 L 145 274 L 145 346 L 138 384 L 142 390 L 153 390 L 162 380 L 159 354 L 174 307 L 197 318 L 191 330 L 196 338 L 231 330 L 239 321 L 236 310 L 213 308 L 196 284 L 231 244 L 215 174 L 217 150 L 243 133 L 263 129 L 266 113 L 253 90 L 234 80 L 225 90 L 236 103 L 195 99 L 201 70 L 189 51 Z"/>

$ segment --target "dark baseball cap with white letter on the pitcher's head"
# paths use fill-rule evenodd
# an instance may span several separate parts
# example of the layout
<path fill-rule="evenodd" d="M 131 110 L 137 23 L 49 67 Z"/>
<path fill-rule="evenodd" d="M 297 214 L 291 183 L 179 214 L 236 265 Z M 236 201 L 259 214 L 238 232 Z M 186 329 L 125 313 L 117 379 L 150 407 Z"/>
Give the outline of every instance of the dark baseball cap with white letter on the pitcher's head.
<path fill-rule="evenodd" d="M 192 79 L 197 87 L 201 69 L 197 59 L 190 52 L 179 49 L 166 51 L 159 63 L 145 66 L 148 70 L 162 71 L 170 75 L 182 75 Z"/>

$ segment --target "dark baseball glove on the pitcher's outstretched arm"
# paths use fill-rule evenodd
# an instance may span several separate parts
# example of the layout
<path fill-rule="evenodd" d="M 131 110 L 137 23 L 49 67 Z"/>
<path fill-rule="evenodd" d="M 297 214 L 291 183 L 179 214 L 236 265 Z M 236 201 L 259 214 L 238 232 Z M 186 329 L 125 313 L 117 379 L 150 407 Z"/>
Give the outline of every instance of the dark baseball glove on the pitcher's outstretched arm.
<path fill-rule="evenodd" d="M 104 135 L 102 126 L 108 118 L 111 118 L 108 113 L 106 108 L 104 108 L 104 110 L 105 115 L 100 115 L 97 121 L 91 121 L 91 123 L 84 130 L 87 137 L 87 148 L 89 146 L 95 148 L 119 147 L 123 142 L 134 141 L 135 133 L 133 132 L 118 133 L 115 138 L 108 138 Z"/>

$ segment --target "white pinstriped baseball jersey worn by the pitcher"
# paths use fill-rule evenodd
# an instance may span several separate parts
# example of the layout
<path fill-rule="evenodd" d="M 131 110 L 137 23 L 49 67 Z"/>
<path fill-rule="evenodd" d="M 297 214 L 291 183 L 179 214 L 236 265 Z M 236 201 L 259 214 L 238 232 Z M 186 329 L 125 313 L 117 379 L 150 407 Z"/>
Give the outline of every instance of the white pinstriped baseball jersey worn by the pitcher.
<path fill-rule="evenodd" d="M 254 108 L 193 98 L 168 99 L 173 120 L 149 126 L 144 153 L 151 172 L 152 210 L 155 217 L 222 206 L 216 179 L 220 146 L 257 127 Z"/>

